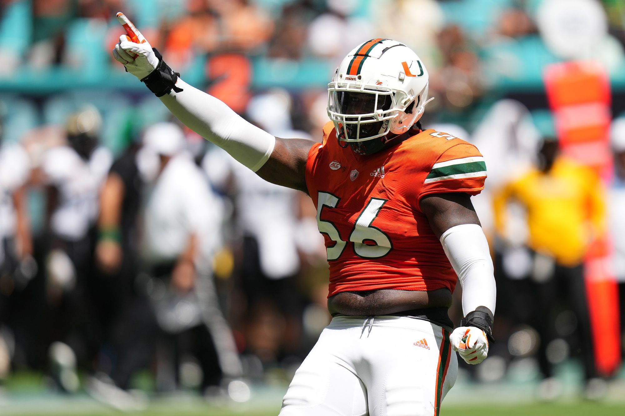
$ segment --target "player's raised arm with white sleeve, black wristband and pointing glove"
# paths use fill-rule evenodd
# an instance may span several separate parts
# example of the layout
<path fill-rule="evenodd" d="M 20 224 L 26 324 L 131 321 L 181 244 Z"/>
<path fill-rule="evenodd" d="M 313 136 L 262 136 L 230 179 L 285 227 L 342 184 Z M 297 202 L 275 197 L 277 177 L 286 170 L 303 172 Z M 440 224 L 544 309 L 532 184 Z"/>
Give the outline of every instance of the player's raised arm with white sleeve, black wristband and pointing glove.
<path fill-rule="evenodd" d="M 304 168 L 313 141 L 280 139 L 242 119 L 219 99 L 179 79 L 124 14 L 118 13 L 118 20 L 127 34 L 119 38 L 113 56 L 174 116 L 262 179 L 306 192 Z"/>

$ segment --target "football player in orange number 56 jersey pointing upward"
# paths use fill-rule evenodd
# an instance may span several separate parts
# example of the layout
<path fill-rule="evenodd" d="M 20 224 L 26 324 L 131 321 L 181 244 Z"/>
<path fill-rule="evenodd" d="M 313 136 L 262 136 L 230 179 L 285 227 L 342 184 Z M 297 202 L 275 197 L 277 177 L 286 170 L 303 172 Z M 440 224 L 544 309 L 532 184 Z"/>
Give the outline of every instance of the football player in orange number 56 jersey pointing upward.
<path fill-rule="evenodd" d="M 428 76 L 419 57 L 389 39 L 360 44 L 329 84 L 322 142 L 281 139 L 186 84 L 118 19 L 128 34 L 113 55 L 128 72 L 186 126 L 317 207 L 332 321 L 280 414 L 438 415 L 456 380 L 452 349 L 470 364 L 486 358 L 495 283 L 470 200 L 484 187 L 484 160 L 457 137 L 421 129 Z M 464 318 L 454 330 L 457 280 Z"/>

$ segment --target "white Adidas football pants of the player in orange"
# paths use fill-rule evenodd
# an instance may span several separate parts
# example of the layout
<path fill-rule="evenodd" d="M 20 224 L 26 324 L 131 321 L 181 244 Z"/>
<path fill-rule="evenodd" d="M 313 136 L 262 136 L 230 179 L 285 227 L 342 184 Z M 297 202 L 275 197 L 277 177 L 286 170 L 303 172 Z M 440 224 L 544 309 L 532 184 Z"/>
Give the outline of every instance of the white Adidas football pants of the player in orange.
<path fill-rule="evenodd" d="M 337 316 L 297 369 L 280 416 L 438 416 L 457 371 L 438 325 Z"/>

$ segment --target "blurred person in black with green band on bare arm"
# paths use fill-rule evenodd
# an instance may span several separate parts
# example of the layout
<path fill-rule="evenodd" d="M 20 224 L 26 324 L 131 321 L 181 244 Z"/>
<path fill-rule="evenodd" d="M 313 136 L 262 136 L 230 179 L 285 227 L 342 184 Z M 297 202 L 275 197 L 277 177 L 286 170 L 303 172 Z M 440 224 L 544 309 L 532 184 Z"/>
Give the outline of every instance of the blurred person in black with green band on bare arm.
<path fill-rule="evenodd" d="M 121 389 L 130 387 L 133 374 L 146 369 L 154 359 L 156 335 L 153 310 L 136 287 L 139 273 L 139 208 L 144 177 L 139 166 L 138 143 L 134 142 L 113 163 L 100 192 L 96 263 L 101 279 L 98 292 L 103 322 L 103 342 L 110 345 L 106 367 Z M 143 164 L 144 165 L 144 164 Z M 146 166 L 141 166 L 146 170 Z M 101 387 L 94 382 L 94 388 Z M 106 394 L 106 388 L 100 388 Z"/>

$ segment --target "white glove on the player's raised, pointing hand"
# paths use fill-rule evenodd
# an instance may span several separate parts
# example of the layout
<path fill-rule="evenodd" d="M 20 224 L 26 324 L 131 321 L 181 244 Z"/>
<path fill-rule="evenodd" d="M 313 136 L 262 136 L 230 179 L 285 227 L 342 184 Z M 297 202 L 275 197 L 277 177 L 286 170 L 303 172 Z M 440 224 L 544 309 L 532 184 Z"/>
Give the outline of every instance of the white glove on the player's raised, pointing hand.
<path fill-rule="evenodd" d="M 121 62 L 139 80 L 144 79 L 158 67 L 159 61 L 152 46 L 123 13 L 117 14 L 118 21 L 126 29 L 126 34 L 119 36 L 119 42 L 113 49 L 113 57 Z"/>

